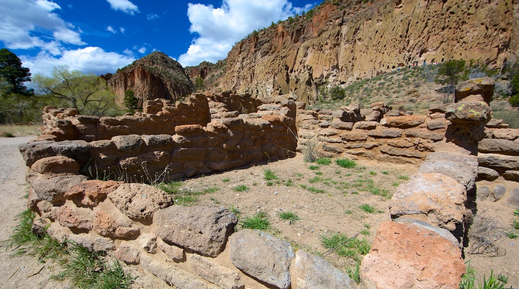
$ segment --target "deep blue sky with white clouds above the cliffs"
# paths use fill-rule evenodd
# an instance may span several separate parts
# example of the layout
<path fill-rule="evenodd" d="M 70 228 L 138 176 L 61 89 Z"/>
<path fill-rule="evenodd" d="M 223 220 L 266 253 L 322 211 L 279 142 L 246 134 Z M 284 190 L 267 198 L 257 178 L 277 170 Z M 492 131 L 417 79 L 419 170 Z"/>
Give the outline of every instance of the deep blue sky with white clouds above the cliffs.
<path fill-rule="evenodd" d="M 252 31 L 320 2 L 0 0 L 0 44 L 33 75 L 58 65 L 114 73 L 156 50 L 192 66 L 224 59 Z"/>

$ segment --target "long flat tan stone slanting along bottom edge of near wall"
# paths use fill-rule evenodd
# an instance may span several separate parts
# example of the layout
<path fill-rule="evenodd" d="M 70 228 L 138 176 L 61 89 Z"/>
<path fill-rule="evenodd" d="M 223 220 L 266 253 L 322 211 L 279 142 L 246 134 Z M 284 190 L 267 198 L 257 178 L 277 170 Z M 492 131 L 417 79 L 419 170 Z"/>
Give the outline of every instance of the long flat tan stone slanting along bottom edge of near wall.
<path fill-rule="evenodd" d="M 185 271 L 171 263 L 159 261 L 143 253 L 140 256 L 141 266 L 152 272 L 158 278 L 178 288 L 186 289 L 217 289 L 218 286 L 206 283 L 195 274 Z"/>

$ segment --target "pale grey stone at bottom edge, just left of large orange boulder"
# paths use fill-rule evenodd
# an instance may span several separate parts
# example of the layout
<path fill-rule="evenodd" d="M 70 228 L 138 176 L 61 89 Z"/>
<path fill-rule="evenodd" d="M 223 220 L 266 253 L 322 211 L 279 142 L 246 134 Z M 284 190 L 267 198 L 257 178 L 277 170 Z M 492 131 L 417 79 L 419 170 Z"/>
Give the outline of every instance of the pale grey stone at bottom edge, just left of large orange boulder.
<path fill-rule="evenodd" d="M 320 256 L 298 250 L 290 265 L 292 289 L 355 288 L 353 280 Z"/>

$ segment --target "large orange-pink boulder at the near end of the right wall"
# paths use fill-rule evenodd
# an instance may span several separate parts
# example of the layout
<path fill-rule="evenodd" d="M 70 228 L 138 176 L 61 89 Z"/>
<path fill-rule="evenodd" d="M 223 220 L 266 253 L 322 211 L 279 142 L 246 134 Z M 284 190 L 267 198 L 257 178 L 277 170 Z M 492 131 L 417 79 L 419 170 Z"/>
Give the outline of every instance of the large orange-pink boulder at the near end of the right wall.
<path fill-rule="evenodd" d="M 465 269 L 461 249 L 438 233 L 386 221 L 362 259 L 361 279 L 368 288 L 458 288 Z"/>

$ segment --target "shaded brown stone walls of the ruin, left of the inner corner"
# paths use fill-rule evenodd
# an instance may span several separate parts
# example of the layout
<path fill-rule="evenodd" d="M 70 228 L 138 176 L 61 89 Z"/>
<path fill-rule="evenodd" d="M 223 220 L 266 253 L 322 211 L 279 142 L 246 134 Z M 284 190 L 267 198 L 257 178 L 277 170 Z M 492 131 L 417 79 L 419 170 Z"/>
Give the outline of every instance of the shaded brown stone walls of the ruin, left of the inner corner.
<path fill-rule="evenodd" d="M 93 177 L 150 182 L 166 174 L 175 180 L 293 156 L 295 112 L 288 96 L 262 103 L 231 92 L 193 95 L 175 105 L 148 100 L 143 112 L 115 118 L 46 107 L 43 135 L 21 152 L 28 166 L 37 160 L 29 153 L 61 154 Z"/>

